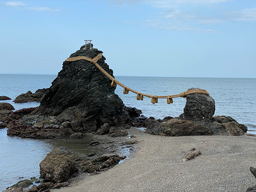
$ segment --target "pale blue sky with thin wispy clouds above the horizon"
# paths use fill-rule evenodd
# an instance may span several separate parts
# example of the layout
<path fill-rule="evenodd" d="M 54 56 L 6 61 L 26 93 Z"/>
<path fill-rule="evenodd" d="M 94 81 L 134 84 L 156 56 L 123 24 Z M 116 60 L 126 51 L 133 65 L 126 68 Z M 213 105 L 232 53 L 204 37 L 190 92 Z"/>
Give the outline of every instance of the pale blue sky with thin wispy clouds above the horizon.
<path fill-rule="evenodd" d="M 256 78 L 256 0 L 0 1 L 0 73 L 57 74 L 84 40 L 115 76 Z"/>

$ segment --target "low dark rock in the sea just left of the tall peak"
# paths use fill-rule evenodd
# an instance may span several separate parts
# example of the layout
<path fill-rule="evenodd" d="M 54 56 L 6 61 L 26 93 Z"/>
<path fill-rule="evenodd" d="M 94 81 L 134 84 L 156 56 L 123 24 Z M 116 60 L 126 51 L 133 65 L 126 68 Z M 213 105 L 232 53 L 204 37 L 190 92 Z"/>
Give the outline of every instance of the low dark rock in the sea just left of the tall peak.
<path fill-rule="evenodd" d="M 40 102 L 43 96 L 47 93 L 48 89 L 38 89 L 35 93 L 28 91 L 22 93 L 14 99 L 14 103 L 27 103 L 27 102 Z"/>

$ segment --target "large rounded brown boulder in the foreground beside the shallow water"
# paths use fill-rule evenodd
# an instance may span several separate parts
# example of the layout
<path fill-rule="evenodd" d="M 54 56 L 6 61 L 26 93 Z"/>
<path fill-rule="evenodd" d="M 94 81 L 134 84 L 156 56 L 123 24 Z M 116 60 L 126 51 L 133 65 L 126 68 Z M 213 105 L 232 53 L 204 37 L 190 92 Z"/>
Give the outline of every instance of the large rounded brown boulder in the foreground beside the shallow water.
<path fill-rule="evenodd" d="M 55 148 L 40 163 L 40 178 L 45 182 L 61 183 L 77 172 L 74 153 L 67 147 Z"/>

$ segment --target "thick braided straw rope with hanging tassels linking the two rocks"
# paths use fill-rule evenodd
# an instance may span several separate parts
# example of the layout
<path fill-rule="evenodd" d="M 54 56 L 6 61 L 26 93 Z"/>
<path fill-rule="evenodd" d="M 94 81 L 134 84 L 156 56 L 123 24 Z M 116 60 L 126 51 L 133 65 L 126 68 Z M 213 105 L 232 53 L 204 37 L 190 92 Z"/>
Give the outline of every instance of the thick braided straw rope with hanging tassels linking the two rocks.
<path fill-rule="evenodd" d="M 209 95 L 209 93 L 205 89 L 191 89 L 191 90 L 182 92 L 180 94 L 167 95 L 167 96 L 149 95 L 149 94 L 137 92 L 137 91 L 131 89 L 130 87 L 127 87 L 127 86 L 121 84 L 118 80 L 116 80 L 114 77 L 112 77 L 110 74 L 108 74 L 108 72 L 106 72 L 97 63 L 97 61 L 101 58 L 102 58 L 102 53 L 98 54 L 93 59 L 85 57 L 85 56 L 78 56 L 78 57 L 67 58 L 67 60 L 65 60 L 65 61 L 70 61 L 71 62 L 71 61 L 77 61 L 77 60 L 87 60 L 87 61 L 93 63 L 103 74 L 105 74 L 108 77 L 108 79 L 112 80 L 111 86 L 116 87 L 117 85 L 119 85 L 119 86 L 123 87 L 124 88 L 123 89 L 123 94 L 128 94 L 129 91 L 132 92 L 132 93 L 137 94 L 137 97 L 136 97 L 137 100 L 143 100 L 143 97 L 149 97 L 149 98 L 151 98 L 151 103 L 153 103 L 153 104 L 158 103 L 158 99 L 167 99 L 167 104 L 170 104 L 170 103 L 173 103 L 172 98 L 177 98 L 177 97 L 185 98 L 186 95 L 192 94 L 192 93 L 203 93 L 203 94 Z"/>

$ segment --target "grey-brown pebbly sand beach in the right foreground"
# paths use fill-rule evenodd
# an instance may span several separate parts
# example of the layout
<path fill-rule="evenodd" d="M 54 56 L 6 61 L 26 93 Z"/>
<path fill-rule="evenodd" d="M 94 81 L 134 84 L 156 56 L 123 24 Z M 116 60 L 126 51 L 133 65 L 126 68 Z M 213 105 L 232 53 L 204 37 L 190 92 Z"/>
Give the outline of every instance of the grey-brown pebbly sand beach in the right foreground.
<path fill-rule="evenodd" d="M 132 158 L 50 192 L 245 192 L 256 185 L 249 171 L 256 167 L 255 136 L 161 137 L 135 128 L 128 133 L 140 141 Z M 193 147 L 202 155 L 182 162 Z"/>

